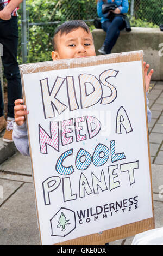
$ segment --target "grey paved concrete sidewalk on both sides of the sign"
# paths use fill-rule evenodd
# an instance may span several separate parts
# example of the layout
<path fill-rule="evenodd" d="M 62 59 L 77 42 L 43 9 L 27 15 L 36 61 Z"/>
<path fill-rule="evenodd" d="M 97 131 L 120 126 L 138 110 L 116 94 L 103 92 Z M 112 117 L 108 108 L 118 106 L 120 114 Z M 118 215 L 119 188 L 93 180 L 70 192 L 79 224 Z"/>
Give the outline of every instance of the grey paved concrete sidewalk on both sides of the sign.
<path fill-rule="evenodd" d="M 155 227 L 163 227 L 163 82 L 152 82 L 149 93 L 152 121 L 149 124 Z M 2 134 L 1 134 L 2 135 Z M 1 139 L 0 139 L 1 140 Z M 0 144 L 0 160 L 16 152 L 13 144 Z M 10 148 L 9 155 L 5 148 Z M 0 245 L 39 245 L 34 186 L 30 158 L 16 152 L 0 164 Z M 1 186 L 0 186 L 1 189 Z M 109 245 L 130 245 L 133 237 Z"/>

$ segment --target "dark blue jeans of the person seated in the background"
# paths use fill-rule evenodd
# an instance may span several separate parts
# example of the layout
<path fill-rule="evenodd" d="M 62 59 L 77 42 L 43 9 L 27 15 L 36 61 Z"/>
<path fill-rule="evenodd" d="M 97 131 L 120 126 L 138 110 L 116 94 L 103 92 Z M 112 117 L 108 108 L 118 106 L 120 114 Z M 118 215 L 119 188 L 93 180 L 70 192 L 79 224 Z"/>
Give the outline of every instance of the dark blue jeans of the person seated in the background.
<path fill-rule="evenodd" d="M 106 38 L 104 41 L 104 45 L 107 46 L 108 53 L 111 53 L 112 47 L 115 45 L 120 31 L 124 29 L 124 22 L 122 17 L 115 17 L 114 20 L 105 21 L 102 23 L 102 29 L 106 32 Z"/>

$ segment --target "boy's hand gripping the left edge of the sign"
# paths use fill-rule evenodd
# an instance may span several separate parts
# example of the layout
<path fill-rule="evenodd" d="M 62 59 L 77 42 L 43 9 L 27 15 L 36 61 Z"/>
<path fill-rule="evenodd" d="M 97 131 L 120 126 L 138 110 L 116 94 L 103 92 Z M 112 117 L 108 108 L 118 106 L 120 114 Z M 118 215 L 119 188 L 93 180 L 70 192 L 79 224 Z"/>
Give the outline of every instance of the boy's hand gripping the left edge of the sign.
<path fill-rule="evenodd" d="M 26 110 L 26 105 L 23 105 L 23 99 L 15 100 L 14 114 L 16 124 L 22 126 L 26 120 L 25 116 L 29 114 L 29 111 Z"/>

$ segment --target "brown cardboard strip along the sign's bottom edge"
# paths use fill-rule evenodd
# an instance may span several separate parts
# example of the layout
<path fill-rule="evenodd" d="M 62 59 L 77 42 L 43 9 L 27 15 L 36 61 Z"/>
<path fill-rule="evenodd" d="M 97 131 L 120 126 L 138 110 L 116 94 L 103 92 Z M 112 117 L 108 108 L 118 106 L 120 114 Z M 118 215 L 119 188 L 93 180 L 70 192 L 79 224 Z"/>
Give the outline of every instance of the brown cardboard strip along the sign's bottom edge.
<path fill-rule="evenodd" d="M 78 237 L 76 239 L 68 240 L 55 245 L 105 245 L 105 243 L 116 241 L 119 239 L 134 236 L 137 233 L 147 231 L 154 228 L 154 218 L 144 219 L 143 221 L 130 223 L 103 231 L 102 234 L 92 234 Z"/>

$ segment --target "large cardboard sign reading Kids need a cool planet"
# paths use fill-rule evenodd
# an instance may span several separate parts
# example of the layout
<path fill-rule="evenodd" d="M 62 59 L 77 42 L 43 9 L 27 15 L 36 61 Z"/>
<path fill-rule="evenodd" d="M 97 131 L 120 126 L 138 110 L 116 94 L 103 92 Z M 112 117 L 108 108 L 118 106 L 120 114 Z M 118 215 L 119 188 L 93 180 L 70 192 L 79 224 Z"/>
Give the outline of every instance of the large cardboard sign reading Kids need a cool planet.
<path fill-rule="evenodd" d="M 154 228 L 143 52 L 20 66 L 43 245 Z"/>

